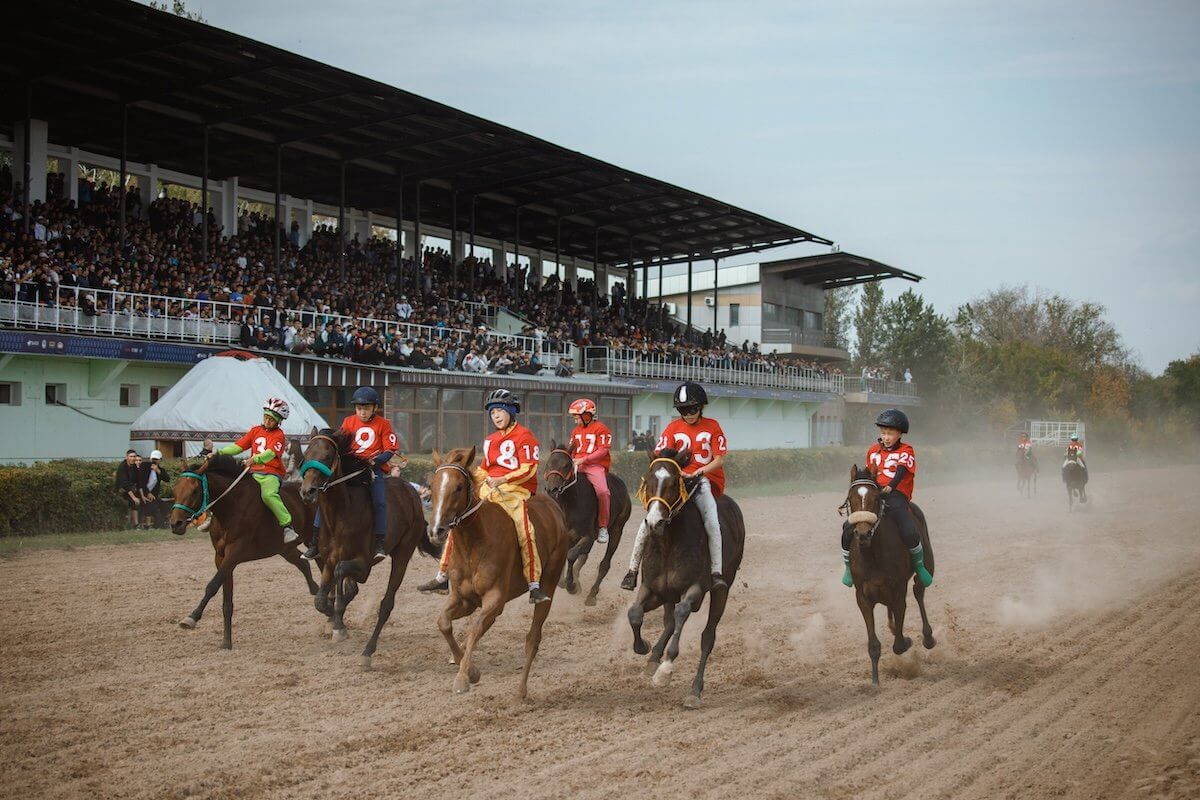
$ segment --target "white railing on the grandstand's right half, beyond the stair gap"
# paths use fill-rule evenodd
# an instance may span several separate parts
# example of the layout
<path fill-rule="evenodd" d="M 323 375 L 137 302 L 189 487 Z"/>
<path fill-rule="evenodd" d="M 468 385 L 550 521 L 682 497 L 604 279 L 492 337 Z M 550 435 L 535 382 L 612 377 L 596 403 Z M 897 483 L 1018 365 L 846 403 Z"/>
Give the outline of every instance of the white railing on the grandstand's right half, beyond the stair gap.
<path fill-rule="evenodd" d="M 708 359 L 685 356 L 677 361 L 648 360 L 636 350 L 589 347 L 584 353 L 584 371 L 611 378 L 654 378 L 660 380 L 695 380 L 700 383 L 792 391 L 845 392 L 844 375 L 824 375 L 806 367 L 767 365 L 727 366 Z"/>

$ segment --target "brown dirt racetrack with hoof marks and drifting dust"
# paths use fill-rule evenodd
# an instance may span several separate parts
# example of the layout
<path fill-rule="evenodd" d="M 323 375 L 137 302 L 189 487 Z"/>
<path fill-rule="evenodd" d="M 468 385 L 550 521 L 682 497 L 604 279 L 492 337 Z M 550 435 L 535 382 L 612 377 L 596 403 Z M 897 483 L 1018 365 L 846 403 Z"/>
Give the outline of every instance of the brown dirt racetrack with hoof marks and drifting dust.
<path fill-rule="evenodd" d="M 839 583 L 840 494 L 745 500 L 698 711 L 680 702 L 703 613 L 670 687 L 630 650 L 631 530 L 599 606 L 556 596 L 526 703 L 529 606 L 508 607 L 482 681 L 455 696 L 444 599 L 413 589 L 427 559 L 364 673 L 382 575 L 334 644 L 293 567 L 239 567 L 227 652 L 220 595 L 197 630 L 175 625 L 211 576 L 206 540 L 20 555 L 0 561 L 0 796 L 1196 798 L 1198 483 L 1198 467 L 1102 473 L 1074 513 L 1052 475 L 1032 500 L 1007 479 L 918 483 L 938 644 L 884 640 L 878 688 Z M 919 643 L 917 625 L 910 602 Z"/>

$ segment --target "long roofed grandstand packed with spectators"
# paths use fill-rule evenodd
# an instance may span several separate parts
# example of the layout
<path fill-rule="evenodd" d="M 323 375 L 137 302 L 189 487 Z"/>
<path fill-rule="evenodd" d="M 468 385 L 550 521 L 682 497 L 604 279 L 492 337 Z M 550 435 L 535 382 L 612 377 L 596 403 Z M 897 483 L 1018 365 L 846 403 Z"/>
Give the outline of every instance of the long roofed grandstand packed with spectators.
<path fill-rule="evenodd" d="M 647 291 L 664 265 L 690 276 L 829 240 L 139 4 L 47 2 L 7 22 L 0 405 L 37 408 L 30 432 L 53 438 L 65 428 L 47 415 L 71 409 L 119 426 L 178 379 L 166 365 L 238 345 L 330 417 L 344 386 L 386 387 L 413 450 L 475 437 L 474 395 L 512 380 L 547 439 L 589 392 L 624 445 L 689 378 L 728 398 L 745 446 L 763 420 L 788 432 L 774 446 L 838 438 L 835 367 L 704 338 Z M 120 383 L 139 361 L 164 372 Z M 872 401 L 892 399 L 882 389 Z M 0 461 L 70 455 L 30 435 Z"/>

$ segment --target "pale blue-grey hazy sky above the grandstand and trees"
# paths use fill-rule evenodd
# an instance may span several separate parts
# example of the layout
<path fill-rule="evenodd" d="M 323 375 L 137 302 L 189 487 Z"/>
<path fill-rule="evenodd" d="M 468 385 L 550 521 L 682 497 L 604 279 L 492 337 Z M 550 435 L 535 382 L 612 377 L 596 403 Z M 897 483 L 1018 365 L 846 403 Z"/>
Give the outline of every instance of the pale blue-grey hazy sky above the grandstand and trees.
<path fill-rule="evenodd" d="M 942 313 L 1028 284 L 1153 373 L 1200 350 L 1194 0 L 187 6 L 923 275 Z"/>

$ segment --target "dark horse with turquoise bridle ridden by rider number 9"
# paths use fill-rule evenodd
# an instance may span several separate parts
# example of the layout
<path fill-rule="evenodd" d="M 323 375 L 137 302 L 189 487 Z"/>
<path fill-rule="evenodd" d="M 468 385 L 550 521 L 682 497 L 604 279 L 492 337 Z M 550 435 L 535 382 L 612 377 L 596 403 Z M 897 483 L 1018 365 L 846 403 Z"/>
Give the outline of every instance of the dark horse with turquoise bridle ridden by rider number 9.
<path fill-rule="evenodd" d="M 331 638 L 346 638 L 346 607 L 359 594 L 374 563 L 374 519 L 371 509 L 371 464 L 350 453 L 353 443 L 341 433 L 313 431 L 304 453 L 300 497 L 305 503 L 317 503 L 320 510 L 320 554 L 324 559 L 317 610 L 330 616 Z M 396 604 L 396 590 L 404 579 L 413 551 L 420 547 L 437 555 L 425 540 L 425 513 L 416 489 L 408 481 L 388 481 L 388 539 L 384 547 L 391 557 L 388 589 L 379 601 L 379 616 L 374 632 L 362 650 L 362 667 L 371 668 L 371 657 L 379 644 L 383 630 Z M 334 590 L 334 607 L 329 608 L 329 593 Z"/>

